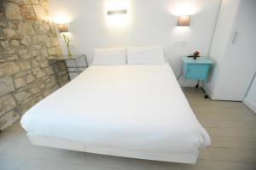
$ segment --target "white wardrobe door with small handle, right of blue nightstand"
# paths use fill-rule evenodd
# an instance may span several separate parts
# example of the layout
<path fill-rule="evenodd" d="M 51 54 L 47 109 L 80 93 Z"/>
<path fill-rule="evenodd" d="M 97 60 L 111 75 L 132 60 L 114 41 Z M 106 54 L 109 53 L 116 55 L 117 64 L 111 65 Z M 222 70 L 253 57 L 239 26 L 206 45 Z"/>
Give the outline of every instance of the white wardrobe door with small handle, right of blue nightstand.
<path fill-rule="evenodd" d="M 256 0 L 241 0 L 218 74 L 218 99 L 242 101 L 256 71 Z"/>

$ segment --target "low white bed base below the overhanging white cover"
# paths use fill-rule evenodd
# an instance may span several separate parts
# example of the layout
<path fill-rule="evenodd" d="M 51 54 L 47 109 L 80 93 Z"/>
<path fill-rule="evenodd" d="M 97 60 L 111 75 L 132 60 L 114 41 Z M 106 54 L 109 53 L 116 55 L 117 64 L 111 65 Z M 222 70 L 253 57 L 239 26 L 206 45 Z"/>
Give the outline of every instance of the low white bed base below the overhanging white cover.
<path fill-rule="evenodd" d="M 172 161 L 195 164 L 199 153 L 198 150 L 195 150 L 194 152 L 172 153 L 148 152 L 144 150 L 127 150 L 123 148 L 83 144 L 66 139 L 55 139 L 45 136 L 33 135 L 30 133 L 27 133 L 26 135 L 30 142 L 36 145 L 59 148 L 64 150 L 77 150 L 108 156 L 122 156 L 154 161 Z"/>

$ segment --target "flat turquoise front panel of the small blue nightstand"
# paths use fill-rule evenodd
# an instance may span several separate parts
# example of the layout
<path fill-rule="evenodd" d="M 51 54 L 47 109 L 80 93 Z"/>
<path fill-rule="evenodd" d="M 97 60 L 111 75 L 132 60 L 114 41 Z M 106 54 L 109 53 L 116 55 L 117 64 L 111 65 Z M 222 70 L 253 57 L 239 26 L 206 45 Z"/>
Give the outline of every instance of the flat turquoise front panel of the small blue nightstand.
<path fill-rule="evenodd" d="M 205 79 L 207 78 L 208 69 L 209 65 L 207 64 L 189 64 L 185 78 Z"/>

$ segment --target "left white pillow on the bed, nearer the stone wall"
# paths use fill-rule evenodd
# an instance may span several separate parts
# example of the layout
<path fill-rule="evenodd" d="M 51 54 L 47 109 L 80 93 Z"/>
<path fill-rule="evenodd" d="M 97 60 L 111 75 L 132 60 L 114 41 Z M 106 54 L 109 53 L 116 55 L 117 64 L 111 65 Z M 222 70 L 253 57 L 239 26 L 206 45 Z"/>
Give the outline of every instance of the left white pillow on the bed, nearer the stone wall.
<path fill-rule="evenodd" d="M 92 65 L 126 65 L 126 48 L 95 48 Z"/>

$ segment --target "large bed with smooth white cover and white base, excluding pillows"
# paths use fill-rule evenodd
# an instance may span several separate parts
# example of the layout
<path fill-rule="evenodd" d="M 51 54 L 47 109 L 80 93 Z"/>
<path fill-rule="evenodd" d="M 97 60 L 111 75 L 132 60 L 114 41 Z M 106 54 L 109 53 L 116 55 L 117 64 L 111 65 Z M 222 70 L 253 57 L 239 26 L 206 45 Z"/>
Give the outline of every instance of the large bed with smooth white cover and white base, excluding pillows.
<path fill-rule="evenodd" d="M 21 119 L 32 144 L 195 163 L 210 144 L 169 65 L 93 65 Z"/>

